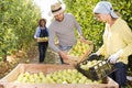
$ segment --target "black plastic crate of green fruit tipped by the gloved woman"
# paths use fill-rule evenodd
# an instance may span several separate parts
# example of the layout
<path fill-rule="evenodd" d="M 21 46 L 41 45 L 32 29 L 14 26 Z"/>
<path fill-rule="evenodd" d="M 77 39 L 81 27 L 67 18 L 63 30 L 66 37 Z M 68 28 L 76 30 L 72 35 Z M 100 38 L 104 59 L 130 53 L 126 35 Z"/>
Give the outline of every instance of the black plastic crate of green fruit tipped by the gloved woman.
<path fill-rule="evenodd" d="M 97 59 L 87 58 L 77 64 L 77 69 L 92 80 L 103 79 L 116 70 L 113 65 L 103 59 L 103 57 L 98 57 Z"/>

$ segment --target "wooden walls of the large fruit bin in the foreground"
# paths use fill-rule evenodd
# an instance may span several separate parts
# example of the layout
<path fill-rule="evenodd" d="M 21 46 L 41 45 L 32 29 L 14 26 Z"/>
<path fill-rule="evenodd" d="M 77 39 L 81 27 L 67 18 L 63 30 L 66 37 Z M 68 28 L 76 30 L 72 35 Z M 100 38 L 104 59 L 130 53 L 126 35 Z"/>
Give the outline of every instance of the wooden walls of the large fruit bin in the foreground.
<path fill-rule="evenodd" d="M 119 88 L 118 84 L 111 78 L 107 78 L 107 84 L 15 84 L 13 82 L 21 73 L 53 73 L 61 69 L 75 69 L 70 65 L 51 64 L 19 64 L 11 73 L 0 79 L 0 88 Z"/>

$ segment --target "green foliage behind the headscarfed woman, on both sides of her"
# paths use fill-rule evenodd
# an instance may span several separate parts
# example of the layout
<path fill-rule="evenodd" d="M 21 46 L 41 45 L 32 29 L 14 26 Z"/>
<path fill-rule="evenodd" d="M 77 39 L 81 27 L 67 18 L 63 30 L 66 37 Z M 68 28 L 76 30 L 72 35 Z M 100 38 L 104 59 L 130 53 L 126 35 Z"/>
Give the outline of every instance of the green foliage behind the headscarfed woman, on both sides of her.
<path fill-rule="evenodd" d="M 79 24 L 86 38 L 95 43 L 95 52 L 102 45 L 102 33 L 105 24 L 98 22 L 92 9 L 100 0 L 64 0 L 66 11 L 73 13 Z M 132 29 L 132 0 L 108 0 L 113 9 L 128 22 Z"/>

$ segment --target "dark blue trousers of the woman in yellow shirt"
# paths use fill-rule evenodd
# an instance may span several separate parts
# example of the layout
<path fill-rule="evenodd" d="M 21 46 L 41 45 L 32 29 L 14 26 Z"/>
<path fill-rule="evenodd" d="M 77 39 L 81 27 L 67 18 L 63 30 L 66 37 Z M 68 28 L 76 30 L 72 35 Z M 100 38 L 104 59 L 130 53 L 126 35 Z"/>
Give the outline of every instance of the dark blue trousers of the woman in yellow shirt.
<path fill-rule="evenodd" d="M 109 77 L 119 84 L 119 88 L 124 87 L 127 84 L 127 65 L 120 62 L 114 64 L 114 67 L 117 70 L 110 74 Z"/>

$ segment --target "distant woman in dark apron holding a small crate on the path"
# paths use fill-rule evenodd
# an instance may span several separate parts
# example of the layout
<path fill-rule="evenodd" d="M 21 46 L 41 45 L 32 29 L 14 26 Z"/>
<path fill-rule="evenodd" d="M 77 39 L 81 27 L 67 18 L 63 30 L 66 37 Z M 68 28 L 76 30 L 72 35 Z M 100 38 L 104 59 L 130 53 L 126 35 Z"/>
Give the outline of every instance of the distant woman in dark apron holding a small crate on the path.
<path fill-rule="evenodd" d="M 38 63 L 43 63 L 46 54 L 46 50 L 48 46 L 48 32 L 46 28 L 46 20 L 41 19 L 38 21 L 38 26 L 36 28 L 36 32 L 34 34 L 34 38 L 38 43 L 38 53 L 40 53 L 40 59 Z"/>

